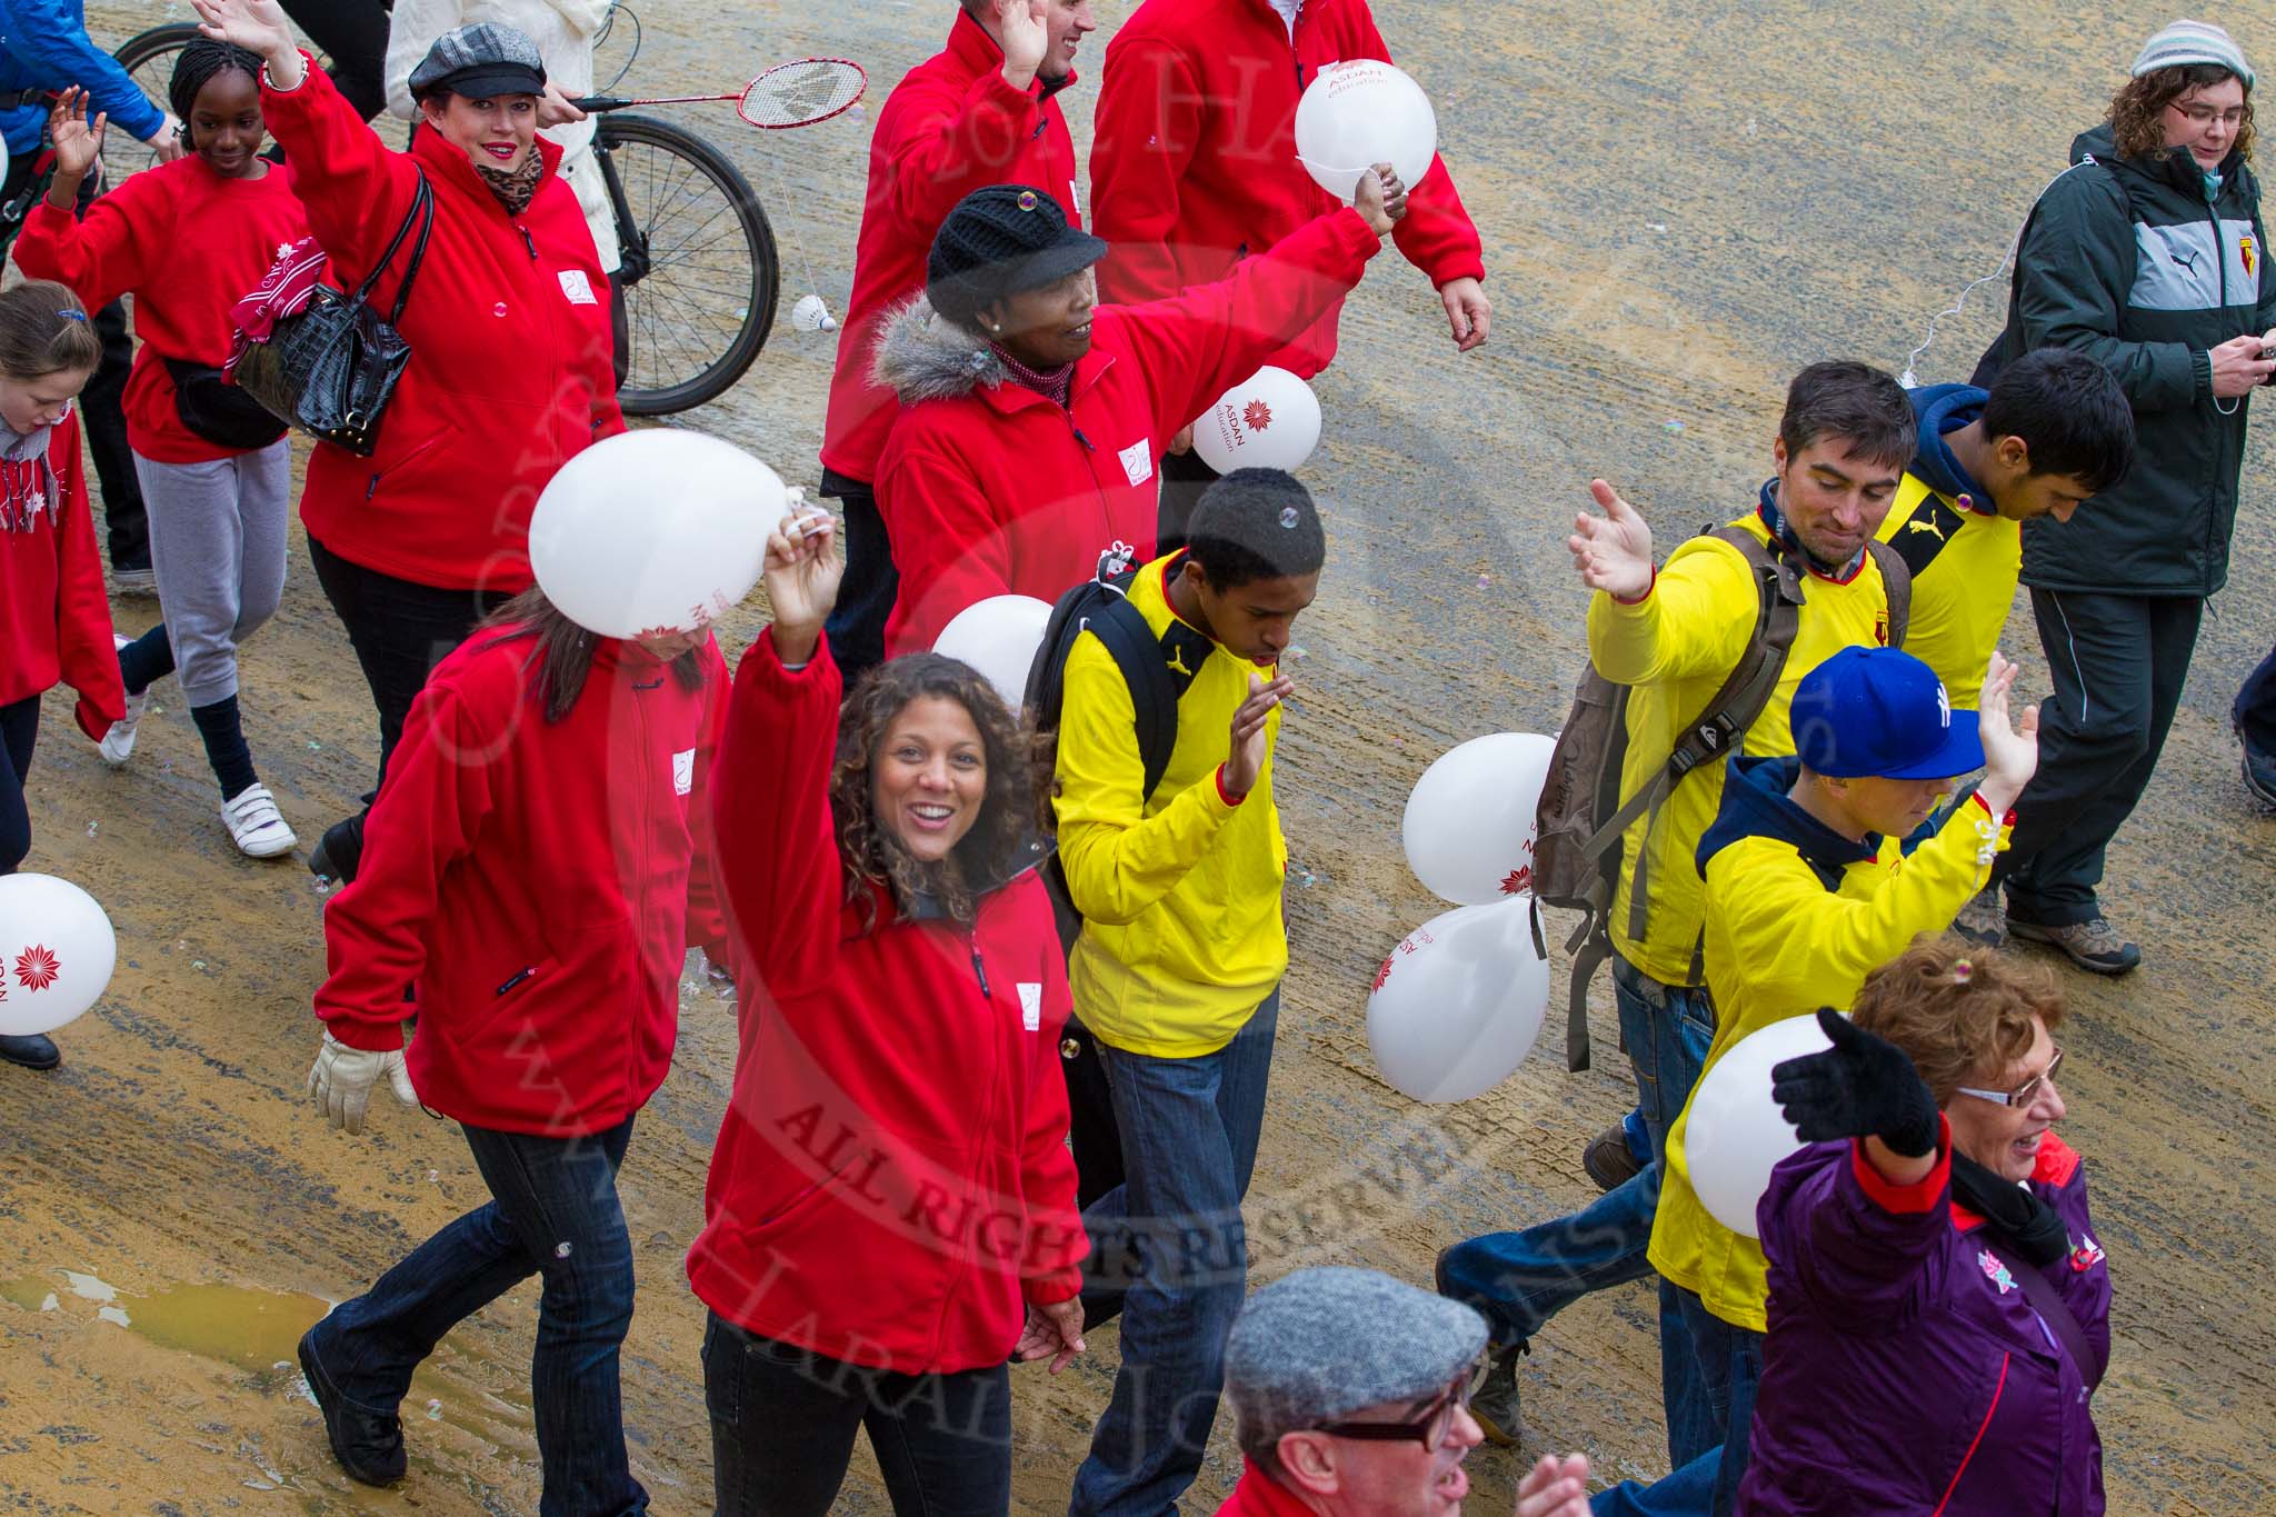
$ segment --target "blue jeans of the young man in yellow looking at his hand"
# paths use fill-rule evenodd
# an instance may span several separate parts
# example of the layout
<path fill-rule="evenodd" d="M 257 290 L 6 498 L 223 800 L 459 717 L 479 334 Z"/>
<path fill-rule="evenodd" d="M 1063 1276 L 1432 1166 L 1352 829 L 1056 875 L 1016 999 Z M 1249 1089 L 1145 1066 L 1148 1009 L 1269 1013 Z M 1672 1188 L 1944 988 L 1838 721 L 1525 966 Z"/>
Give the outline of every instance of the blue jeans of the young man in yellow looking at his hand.
<path fill-rule="evenodd" d="M 1247 1294 L 1240 1199 L 1272 1073 L 1279 989 L 1202 1058 L 1152 1058 L 1099 1044 L 1122 1133 L 1124 1183 L 1083 1228 L 1136 1246 L 1122 1301 L 1122 1369 L 1090 1458 L 1074 1472 L 1072 1517 L 1161 1517 L 1202 1467 L 1224 1381 L 1224 1337 Z M 1129 1244 L 1124 1244 L 1129 1246 Z"/>

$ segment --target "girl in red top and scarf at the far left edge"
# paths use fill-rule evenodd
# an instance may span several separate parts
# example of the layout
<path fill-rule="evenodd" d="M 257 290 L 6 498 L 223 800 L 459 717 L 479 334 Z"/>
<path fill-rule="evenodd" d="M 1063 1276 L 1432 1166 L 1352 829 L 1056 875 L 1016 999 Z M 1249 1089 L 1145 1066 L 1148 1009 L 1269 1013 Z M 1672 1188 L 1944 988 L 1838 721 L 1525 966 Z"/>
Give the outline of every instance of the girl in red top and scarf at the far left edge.
<path fill-rule="evenodd" d="M 71 412 L 100 357 L 86 307 L 61 284 L 0 293 L 0 873 L 32 851 L 23 780 L 41 691 L 71 680 L 80 730 L 93 739 L 125 714 Z M 64 1055 L 27 1035 L 0 1037 L 0 1060 L 55 1069 Z"/>

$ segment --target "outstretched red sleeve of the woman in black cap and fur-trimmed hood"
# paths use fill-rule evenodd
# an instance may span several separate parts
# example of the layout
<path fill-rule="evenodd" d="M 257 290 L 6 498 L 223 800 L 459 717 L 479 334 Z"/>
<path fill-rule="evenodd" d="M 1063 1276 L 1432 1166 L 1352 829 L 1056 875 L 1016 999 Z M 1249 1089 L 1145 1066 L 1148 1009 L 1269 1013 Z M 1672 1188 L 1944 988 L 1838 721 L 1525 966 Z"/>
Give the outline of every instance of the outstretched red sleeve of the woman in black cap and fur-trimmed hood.
<path fill-rule="evenodd" d="M 1118 307 L 1120 339 L 1154 391 L 1154 434 L 1170 437 L 1347 296 L 1382 250 L 1345 207 L 1316 216 L 1229 280 L 1170 300 Z"/>

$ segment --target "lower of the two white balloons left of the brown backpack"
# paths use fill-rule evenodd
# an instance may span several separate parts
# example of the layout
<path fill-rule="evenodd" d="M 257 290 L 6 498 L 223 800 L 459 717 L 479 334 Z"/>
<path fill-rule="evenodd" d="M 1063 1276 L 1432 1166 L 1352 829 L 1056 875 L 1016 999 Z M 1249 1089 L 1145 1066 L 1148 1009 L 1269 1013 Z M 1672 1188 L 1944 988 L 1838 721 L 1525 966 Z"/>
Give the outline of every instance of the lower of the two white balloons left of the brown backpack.
<path fill-rule="evenodd" d="M 1525 1062 L 1548 1005 L 1534 903 L 1463 905 L 1409 932 L 1375 971 L 1368 1048 L 1416 1101 L 1468 1101 Z"/>

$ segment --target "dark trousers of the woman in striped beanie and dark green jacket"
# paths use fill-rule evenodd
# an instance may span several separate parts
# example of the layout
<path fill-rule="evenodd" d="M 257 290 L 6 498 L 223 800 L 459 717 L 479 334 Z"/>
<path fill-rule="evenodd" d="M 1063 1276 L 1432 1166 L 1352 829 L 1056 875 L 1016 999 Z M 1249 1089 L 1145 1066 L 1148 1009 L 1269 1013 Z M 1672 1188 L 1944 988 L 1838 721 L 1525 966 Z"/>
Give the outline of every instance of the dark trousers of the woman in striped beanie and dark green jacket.
<path fill-rule="evenodd" d="M 2205 603 L 2032 589 L 2030 612 L 2055 696 L 2039 707 L 2039 771 L 1994 878 L 2010 917 L 2060 928 L 2101 912 L 2103 853 L 2158 769 Z"/>

